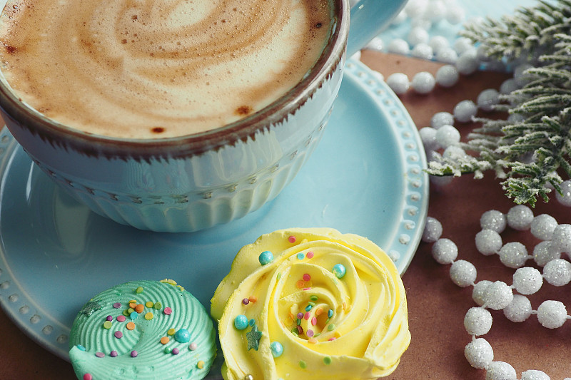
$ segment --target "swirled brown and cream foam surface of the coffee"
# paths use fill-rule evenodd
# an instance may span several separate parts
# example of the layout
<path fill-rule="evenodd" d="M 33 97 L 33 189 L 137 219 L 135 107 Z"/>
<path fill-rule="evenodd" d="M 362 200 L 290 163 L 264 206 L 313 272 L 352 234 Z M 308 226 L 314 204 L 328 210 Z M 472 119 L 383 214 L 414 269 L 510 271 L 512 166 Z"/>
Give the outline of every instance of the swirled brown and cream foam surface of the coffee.
<path fill-rule="evenodd" d="M 15 0 L 1 71 L 64 125 L 121 138 L 218 128 L 261 110 L 313 66 L 327 0 Z"/>

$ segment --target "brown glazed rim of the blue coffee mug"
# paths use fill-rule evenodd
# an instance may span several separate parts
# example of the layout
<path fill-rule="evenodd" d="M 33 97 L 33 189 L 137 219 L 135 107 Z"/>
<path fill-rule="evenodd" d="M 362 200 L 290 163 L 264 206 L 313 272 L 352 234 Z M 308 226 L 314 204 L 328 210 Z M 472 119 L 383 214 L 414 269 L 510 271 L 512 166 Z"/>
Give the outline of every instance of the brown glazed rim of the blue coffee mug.
<path fill-rule="evenodd" d="M 255 139 L 256 133 L 263 132 L 272 125 L 279 125 L 288 115 L 294 114 L 343 64 L 348 38 L 349 6 L 347 0 L 333 0 L 332 5 L 333 22 L 328 44 L 308 76 L 261 111 L 204 133 L 162 139 L 110 138 L 86 133 L 56 123 L 39 113 L 29 112 L 29 108 L 19 101 L 4 81 L 0 81 L 0 108 L 3 117 L 14 120 L 21 128 L 38 135 L 51 145 L 93 157 L 136 160 L 188 157 L 201 155 L 208 150 L 218 150 L 225 145 L 234 145 L 239 140 Z"/>

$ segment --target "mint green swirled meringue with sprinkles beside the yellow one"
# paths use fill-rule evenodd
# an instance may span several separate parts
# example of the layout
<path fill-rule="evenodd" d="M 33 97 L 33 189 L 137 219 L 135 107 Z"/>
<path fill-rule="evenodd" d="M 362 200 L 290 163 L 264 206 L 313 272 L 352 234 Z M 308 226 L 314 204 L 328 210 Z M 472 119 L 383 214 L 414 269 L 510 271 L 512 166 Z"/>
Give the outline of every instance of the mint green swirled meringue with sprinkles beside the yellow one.
<path fill-rule="evenodd" d="M 136 292 L 138 287 L 141 293 Z M 143 305 L 153 302 L 153 307 L 144 307 L 136 319 L 127 316 L 124 322 L 118 322 L 116 317 L 123 315 L 131 300 Z M 121 307 L 113 307 L 116 302 Z M 161 307 L 155 308 L 156 302 Z M 171 314 L 165 313 L 167 307 Z M 152 319 L 145 318 L 148 312 L 153 314 Z M 103 327 L 108 315 L 113 317 L 110 329 Z M 133 322 L 135 329 L 129 330 L 128 322 Z M 177 342 L 168 335 L 169 329 L 188 330 L 190 341 Z M 115 337 L 117 331 L 121 338 Z M 169 342 L 161 344 L 161 337 L 169 337 Z M 216 356 L 215 337 L 208 313 L 189 292 L 166 282 L 134 281 L 101 292 L 81 309 L 71 328 L 69 354 L 78 379 L 88 373 L 93 379 L 106 380 L 202 379 Z M 191 343 L 196 343 L 196 349 L 190 349 Z M 175 348 L 178 354 L 165 351 Z M 116 357 L 111 356 L 113 350 L 117 351 Z M 137 351 L 136 357 L 131 356 L 133 350 Z M 98 352 L 105 356 L 96 356 Z"/>

